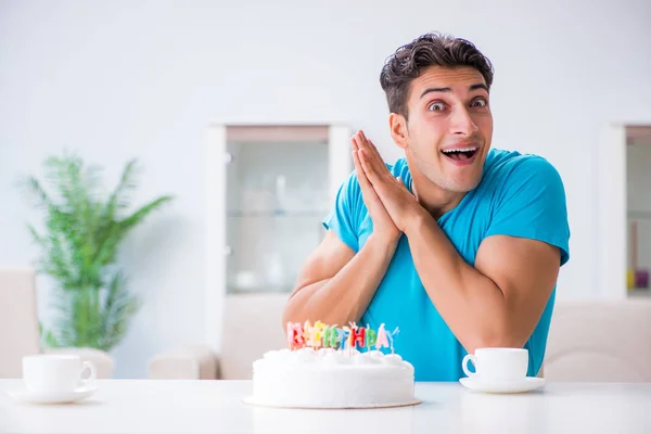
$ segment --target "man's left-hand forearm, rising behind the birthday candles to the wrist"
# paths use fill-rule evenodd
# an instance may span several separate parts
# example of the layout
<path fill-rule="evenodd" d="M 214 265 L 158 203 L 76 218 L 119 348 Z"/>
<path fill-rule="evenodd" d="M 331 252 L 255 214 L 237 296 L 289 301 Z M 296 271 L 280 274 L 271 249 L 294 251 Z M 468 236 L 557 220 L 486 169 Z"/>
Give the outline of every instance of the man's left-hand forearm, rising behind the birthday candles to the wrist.
<path fill-rule="evenodd" d="M 396 244 L 369 237 L 336 276 L 298 290 L 288 302 L 283 321 L 339 326 L 359 321 L 388 268 Z"/>

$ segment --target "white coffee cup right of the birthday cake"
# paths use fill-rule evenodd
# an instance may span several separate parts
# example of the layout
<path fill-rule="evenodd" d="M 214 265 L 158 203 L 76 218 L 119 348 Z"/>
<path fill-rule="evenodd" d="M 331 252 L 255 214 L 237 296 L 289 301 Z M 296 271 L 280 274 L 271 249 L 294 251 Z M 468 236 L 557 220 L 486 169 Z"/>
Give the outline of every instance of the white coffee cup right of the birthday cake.
<path fill-rule="evenodd" d="M 468 369 L 472 361 L 475 371 Z M 469 378 L 485 382 L 512 382 L 526 378 L 528 350 L 526 348 L 476 348 L 474 355 L 467 355 L 461 362 Z"/>

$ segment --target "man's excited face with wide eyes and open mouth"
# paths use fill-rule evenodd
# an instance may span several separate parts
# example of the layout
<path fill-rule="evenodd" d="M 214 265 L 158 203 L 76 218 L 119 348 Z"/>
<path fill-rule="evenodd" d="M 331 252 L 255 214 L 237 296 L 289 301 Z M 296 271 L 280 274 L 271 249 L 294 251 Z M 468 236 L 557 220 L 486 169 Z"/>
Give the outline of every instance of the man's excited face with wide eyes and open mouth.
<path fill-rule="evenodd" d="M 471 67 L 431 67 L 411 82 L 407 107 L 409 163 L 445 191 L 474 189 L 493 137 L 482 74 Z"/>

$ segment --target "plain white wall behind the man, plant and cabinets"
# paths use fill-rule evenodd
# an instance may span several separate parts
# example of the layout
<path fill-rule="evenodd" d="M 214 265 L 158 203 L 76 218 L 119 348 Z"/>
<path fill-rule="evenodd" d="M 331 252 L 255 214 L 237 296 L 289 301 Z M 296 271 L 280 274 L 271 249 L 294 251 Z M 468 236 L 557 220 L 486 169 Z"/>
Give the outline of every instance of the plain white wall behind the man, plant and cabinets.
<path fill-rule="evenodd" d="M 155 352 L 203 336 L 205 126 L 343 122 L 395 159 L 378 75 L 395 48 L 437 29 L 495 63 L 495 146 L 542 154 L 563 176 L 572 259 L 559 296 L 590 296 L 598 128 L 651 118 L 651 5 L 523 3 L 0 1 L 0 264 L 36 254 L 18 174 L 64 146 L 112 180 L 140 157 L 137 199 L 177 195 L 123 257 L 145 305 L 114 353 L 117 375 L 143 375 Z"/>

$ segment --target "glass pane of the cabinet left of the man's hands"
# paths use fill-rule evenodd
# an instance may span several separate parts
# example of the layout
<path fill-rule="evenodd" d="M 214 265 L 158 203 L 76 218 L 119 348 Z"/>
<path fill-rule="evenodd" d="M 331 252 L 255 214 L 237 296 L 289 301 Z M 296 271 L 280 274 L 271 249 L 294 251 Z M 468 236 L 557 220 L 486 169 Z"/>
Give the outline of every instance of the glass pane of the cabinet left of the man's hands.
<path fill-rule="evenodd" d="M 322 140 L 227 143 L 227 293 L 289 293 L 331 206 Z"/>

